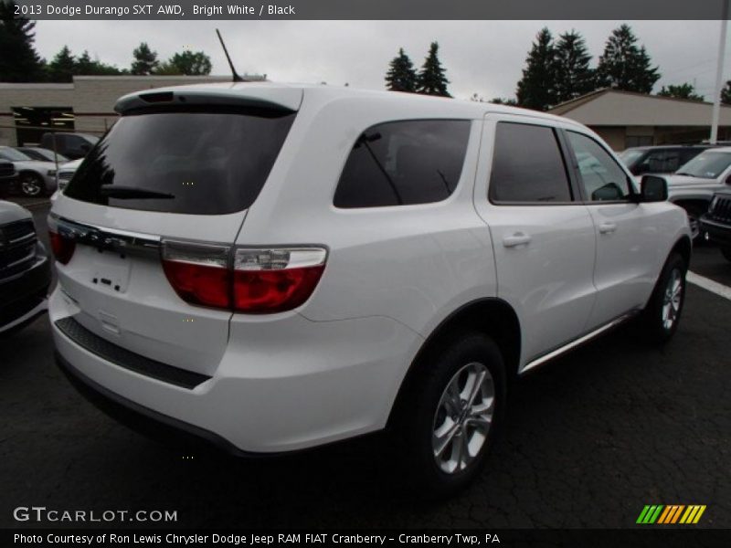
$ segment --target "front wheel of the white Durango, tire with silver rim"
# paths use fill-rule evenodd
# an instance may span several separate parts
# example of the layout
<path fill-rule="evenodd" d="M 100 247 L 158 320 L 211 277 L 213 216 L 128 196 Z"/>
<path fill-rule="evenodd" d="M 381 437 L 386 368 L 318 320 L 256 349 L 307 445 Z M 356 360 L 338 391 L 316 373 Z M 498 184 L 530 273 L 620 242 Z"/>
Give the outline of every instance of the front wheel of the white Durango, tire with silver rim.
<path fill-rule="evenodd" d="M 641 324 L 651 342 L 668 342 L 678 329 L 685 302 L 685 273 L 688 265 L 679 253 L 665 261 L 652 297 L 642 311 Z"/>

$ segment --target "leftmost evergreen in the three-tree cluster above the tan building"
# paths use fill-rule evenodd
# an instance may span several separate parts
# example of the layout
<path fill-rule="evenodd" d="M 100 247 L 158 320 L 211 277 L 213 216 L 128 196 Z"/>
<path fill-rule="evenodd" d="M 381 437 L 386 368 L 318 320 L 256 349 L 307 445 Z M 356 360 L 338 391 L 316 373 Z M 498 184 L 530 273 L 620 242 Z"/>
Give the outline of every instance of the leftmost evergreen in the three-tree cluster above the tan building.
<path fill-rule="evenodd" d="M 546 111 L 556 104 L 555 57 L 551 31 L 544 27 L 535 37 L 533 47 L 525 58 L 523 78 L 518 81 L 515 91 L 519 106 Z"/>

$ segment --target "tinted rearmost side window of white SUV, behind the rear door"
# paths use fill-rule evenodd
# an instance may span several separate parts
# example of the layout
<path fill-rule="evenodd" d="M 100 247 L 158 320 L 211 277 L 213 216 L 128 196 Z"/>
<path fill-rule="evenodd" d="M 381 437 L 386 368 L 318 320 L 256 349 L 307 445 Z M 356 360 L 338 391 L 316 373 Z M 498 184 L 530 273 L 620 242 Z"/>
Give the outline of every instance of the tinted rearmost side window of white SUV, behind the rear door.
<path fill-rule="evenodd" d="M 440 202 L 460 180 L 469 120 L 393 121 L 363 132 L 345 162 L 336 207 Z"/>

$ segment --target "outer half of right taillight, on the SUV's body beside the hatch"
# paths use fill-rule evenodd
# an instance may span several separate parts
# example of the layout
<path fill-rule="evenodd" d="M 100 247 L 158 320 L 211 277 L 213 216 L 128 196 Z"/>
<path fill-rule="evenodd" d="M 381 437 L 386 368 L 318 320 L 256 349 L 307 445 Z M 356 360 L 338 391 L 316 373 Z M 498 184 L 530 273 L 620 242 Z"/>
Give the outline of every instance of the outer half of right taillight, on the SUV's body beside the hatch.
<path fill-rule="evenodd" d="M 237 249 L 234 309 L 261 314 L 297 308 L 313 294 L 325 258 L 323 248 Z"/>

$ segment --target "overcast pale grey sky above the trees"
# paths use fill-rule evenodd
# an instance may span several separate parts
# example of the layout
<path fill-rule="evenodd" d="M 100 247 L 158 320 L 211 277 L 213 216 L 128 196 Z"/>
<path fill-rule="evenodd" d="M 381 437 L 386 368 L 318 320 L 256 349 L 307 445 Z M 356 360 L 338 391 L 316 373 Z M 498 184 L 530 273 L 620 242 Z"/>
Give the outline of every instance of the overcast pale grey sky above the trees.
<path fill-rule="evenodd" d="M 213 62 L 212 74 L 228 74 L 215 33 L 219 28 L 239 73 L 377 90 L 383 89 L 399 47 L 420 67 L 436 40 L 450 93 L 490 100 L 514 97 L 541 27 L 555 37 L 576 29 L 596 66 L 611 30 L 625 22 L 660 67 L 655 91 L 691 82 L 713 100 L 719 21 L 38 21 L 36 47 L 48 60 L 68 45 L 74 54 L 88 49 L 92 58 L 129 68 L 132 49 L 146 41 L 161 59 L 185 48 L 203 50 Z M 726 44 L 726 68 L 728 49 Z M 724 74 L 731 78 L 731 70 Z"/>

